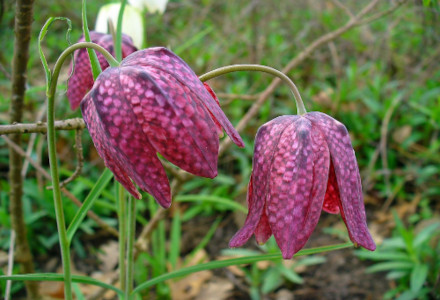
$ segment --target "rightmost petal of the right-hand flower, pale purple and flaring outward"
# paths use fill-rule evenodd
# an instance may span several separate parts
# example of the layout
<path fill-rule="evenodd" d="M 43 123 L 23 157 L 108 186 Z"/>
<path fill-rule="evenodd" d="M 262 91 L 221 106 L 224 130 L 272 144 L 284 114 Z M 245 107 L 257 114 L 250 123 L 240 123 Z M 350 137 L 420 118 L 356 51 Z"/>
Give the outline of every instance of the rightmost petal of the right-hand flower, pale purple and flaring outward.
<path fill-rule="evenodd" d="M 347 128 L 320 112 L 308 113 L 306 118 L 326 138 L 338 182 L 341 214 L 345 217 L 351 240 L 368 250 L 376 249 L 367 227 L 359 168 Z"/>

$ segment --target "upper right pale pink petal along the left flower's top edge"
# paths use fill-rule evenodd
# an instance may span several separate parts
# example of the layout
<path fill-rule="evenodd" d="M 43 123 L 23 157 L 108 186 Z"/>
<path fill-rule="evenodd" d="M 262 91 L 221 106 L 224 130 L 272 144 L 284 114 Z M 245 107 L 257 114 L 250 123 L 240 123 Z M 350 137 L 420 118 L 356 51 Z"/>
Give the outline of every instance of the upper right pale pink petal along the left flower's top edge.
<path fill-rule="evenodd" d="M 124 59 L 121 66 L 152 67 L 174 76 L 182 85 L 185 85 L 197 95 L 199 102 L 204 105 L 221 124 L 232 141 L 239 147 L 244 147 L 240 135 L 206 90 L 197 75 L 180 57 L 170 50 L 162 47 L 140 50 Z"/>

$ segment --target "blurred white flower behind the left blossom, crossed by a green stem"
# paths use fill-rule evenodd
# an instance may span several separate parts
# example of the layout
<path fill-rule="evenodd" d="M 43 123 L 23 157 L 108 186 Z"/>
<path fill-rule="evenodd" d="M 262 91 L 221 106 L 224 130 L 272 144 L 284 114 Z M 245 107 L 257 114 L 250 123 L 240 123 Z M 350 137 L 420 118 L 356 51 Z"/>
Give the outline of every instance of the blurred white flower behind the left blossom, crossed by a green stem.
<path fill-rule="evenodd" d="M 102 33 L 108 32 L 108 20 L 117 26 L 120 3 L 103 5 L 96 18 L 95 30 Z M 142 12 L 136 7 L 125 5 L 124 16 L 122 18 L 122 32 L 133 39 L 134 45 L 141 49 L 144 42 L 144 20 Z"/>

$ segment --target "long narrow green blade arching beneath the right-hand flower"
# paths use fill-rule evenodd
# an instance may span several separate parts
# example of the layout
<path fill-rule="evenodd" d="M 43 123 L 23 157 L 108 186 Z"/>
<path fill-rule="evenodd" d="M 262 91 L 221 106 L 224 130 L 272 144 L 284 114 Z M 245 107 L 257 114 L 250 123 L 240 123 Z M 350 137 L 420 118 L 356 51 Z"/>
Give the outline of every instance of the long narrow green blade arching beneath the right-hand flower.
<path fill-rule="evenodd" d="M 317 253 L 323 253 L 333 250 L 339 250 L 344 248 L 352 247 L 353 243 L 345 243 L 345 244 L 338 244 L 338 245 L 331 245 L 331 246 L 324 246 L 324 247 L 318 247 L 318 248 L 310 248 L 310 249 L 303 249 L 300 250 L 297 254 L 295 254 L 295 257 L 303 256 L 303 255 L 312 255 Z M 157 276 L 147 282 L 144 282 L 140 284 L 138 287 L 136 287 L 133 290 L 133 293 L 138 293 L 146 288 L 149 288 L 153 285 L 156 285 L 158 283 L 164 282 L 169 279 L 173 279 L 176 277 L 185 276 L 191 273 L 196 273 L 200 271 L 205 270 L 212 270 L 212 269 L 219 269 L 224 268 L 228 266 L 234 266 L 234 265 L 242 265 L 242 264 L 250 264 L 258 261 L 273 261 L 273 260 L 281 260 L 282 255 L 281 253 L 275 253 L 275 254 L 264 254 L 264 255 L 255 255 L 255 256 L 246 256 L 246 257 L 239 257 L 239 258 L 232 258 L 232 259 L 226 259 L 226 260 L 220 260 L 220 261 L 212 261 L 204 264 L 199 264 L 195 266 L 190 266 L 186 268 L 182 268 L 180 270 L 170 272 L 167 274 L 163 274 L 160 276 Z"/>

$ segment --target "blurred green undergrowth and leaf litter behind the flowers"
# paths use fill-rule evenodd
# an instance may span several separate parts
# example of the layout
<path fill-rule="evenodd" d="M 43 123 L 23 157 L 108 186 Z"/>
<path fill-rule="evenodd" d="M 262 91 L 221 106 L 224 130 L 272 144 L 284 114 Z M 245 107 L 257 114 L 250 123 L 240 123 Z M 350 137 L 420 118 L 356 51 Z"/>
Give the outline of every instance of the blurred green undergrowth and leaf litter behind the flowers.
<path fill-rule="evenodd" d="M 89 1 L 90 27 L 99 7 L 107 2 Z M 365 5 L 362 1 L 342 2 L 352 12 L 358 12 Z M 1 3 L 0 122 L 8 124 L 14 1 L 2 0 Z M 24 122 L 44 120 L 45 78 L 37 54 L 39 30 L 50 16 L 68 17 L 74 27 L 72 41 L 76 41 L 81 35 L 80 5 L 80 1 L 67 0 L 35 3 Z M 374 11 L 386 10 L 390 5 L 388 1 L 380 1 Z M 170 2 L 164 15 L 147 14 L 146 29 L 148 46 L 172 49 L 197 74 L 203 74 L 234 63 L 259 63 L 282 69 L 316 38 L 339 28 L 348 18 L 337 1 L 181 0 Z M 49 62 L 55 62 L 68 45 L 65 32 L 64 24 L 51 27 L 44 43 Z M 362 173 L 369 227 L 381 245 L 376 252 L 344 250 L 328 257 L 295 260 L 291 264 L 279 262 L 225 269 L 158 285 L 150 295 L 158 299 L 199 299 L 200 295 L 212 297 L 205 299 L 290 299 L 282 298 L 283 295 L 295 295 L 295 299 L 364 299 L 367 295 L 401 299 L 439 297 L 439 60 L 439 4 L 437 1 L 407 1 L 392 14 L 351 29 L 324 44 L 288 74 L 299 87 L 309 111 L 332 115 L 343 122 L 352 135 Z M 64 81 L 60 82 L 56 113 L 59 119 L 81 117 L 79 111 L 70 111 L 65 96 L 67 70 L 66 66 Z M 226 115 L 237 124 L 271 81 L 272 78 L 264 74 L 235 73 L 210 84 L 218 93 Z M 139 282 L 185 264 L 231 255 L 223 250 L 245 218 L 241 205 L 246 206 L 255 133 L 270 119 L 295 113 L 287 87 L 280 86 L 244 129 L 242 137 L 246 148 L 231 147 L 220 158 L 219 176 L 214 180 L 192 179 L 182 186 L 168 213 L 170 217 L 159 222 L 148 252 L 138 257 L 136 279 Z M 29 156 L 48 169 L 45 136 L 23 135 L 23 139 L 20 146 L 27 150 L 32 144 Z M 82 176 L 67 186 L 78 199 L 87 195 L 103 169 L 86 130 L 82 143 L 85 157 Z M 2 138 L 0 145 L 0 264 L 5 267 L 11 183 L 7 177 L 8 149 Z M 57 147 L 64 177 L 71 175 L 76 167 L 73 145 L 73 131 L 59 132 Z M 47 185 L 41 172 L 32 166 L 26 169 L 25 222 L 36 269 L 56 271 L 60 265 L 58 240 L 52 192 L 46 189 Z M 146 201 L 139 202 L 139 227 L 148 224 L 157 210 L 154 201 L 145 198 Z M 65 200 L 69 220 L 77 207 Z M 114 207 L 114 192 L 108 188 L 93 211 L 107 224 L 115 226 Z M 338 216 L 323 214 L 309 245 L 346 240 L 346 230 L 341 224 Z M 73 242 L 77 271 L 86 274 L 100 271 L 102 276 L 112 278 L 115 265 L 103 265 L 112 257 L 114 240 L 87 219 Z M 246 249 L 276 251 L 273 241 L 265 247 L 248 243 Z M 342 259 L 342 263 L 338 259 Z M 311 266 L 322 263 L 327 265 Z M 18 271 L 18 267 L 15 268 Z M 339 272 L 327 272 L 327 276 L 334 279 L 327 278 L 320 284 L 316 281 L 319 268 L 328 272 L 339 268 Z M 369 275 L 366 272 L 382 273 Z M 347 274 L 351 274 L 350 278 Z M 353 274 L 357 277 L 353 278 Z M 384 281 L 384 274 L 389 281 Z M 373 282 L 366 285 L 365 280 Z M 341 289 L 343 285 L 338 286 L 337 281 L 345 282 L 345 287 L 350 288 Z M 192 291 L 185 290 L 188 286 Z M 353 286 L 358 289 L 351 288 Z M 216 294 L 209 294 L 212 287 Z M 224 295 L 220 294 L 220 287 L 225 290 Z M 4 282 L 0 282 L 0 288 L 4 288 Z M 43 286 L 41 291 L 47 297 L 57 295 L 54 284 L 50 288 Z M 13 292 L 13 299 L 20 299 L 24 295 L 23 285 L 15 283 Z M 85 295 L 94 292 L 82 289 Z M 108 297 L 112 299 L 112 295 Z"/>

